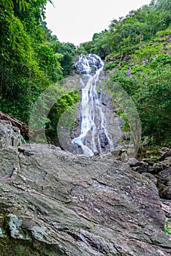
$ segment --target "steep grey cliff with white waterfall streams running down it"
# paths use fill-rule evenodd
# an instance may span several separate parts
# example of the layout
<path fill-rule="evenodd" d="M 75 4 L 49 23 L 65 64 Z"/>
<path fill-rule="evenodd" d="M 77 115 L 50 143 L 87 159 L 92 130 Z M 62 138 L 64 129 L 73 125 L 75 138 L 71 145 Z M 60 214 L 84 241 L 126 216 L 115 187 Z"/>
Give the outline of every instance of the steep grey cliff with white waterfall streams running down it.
<path fill-rule="evenodd" d="M 74 67 L 80 74 L 81 101 L 77 104 L 75 124 L 69 129 L 58 122 L 58 140 L 73 154 L 92 156 L 109 152 L 123 142 L 123 121 L 115 116 L 112 98 L 102 86 L 104 63 L 99 56 L 77 56 Z"/>

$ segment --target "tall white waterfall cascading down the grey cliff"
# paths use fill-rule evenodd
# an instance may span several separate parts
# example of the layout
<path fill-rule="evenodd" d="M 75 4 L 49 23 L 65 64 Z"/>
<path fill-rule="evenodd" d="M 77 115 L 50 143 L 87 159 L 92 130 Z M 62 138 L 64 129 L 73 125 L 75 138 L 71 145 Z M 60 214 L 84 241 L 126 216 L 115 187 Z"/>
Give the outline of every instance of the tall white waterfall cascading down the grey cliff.
<path fill-rule="evenodd" d="M 102 59 L 95 54 L 80 56 L 74 66 L 77 73 L 81 75 L 82 89 L 80 136 L 74 138 L 72 143 L 80 146 L 86 156 L 113 149 L 113 139 L 107 131 L 107 122 L 102 110 L 99 75 L 103 66 Z"/>

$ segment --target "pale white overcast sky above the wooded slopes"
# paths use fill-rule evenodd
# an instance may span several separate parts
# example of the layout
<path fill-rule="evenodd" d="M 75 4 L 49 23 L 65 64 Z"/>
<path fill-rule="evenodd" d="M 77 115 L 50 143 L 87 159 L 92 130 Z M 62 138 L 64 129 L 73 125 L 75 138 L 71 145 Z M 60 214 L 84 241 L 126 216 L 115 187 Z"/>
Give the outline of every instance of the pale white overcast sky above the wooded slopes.
<path fill-rule="evenodd" d="M 125 17 L 131 10 L 151 0 L 53 0 L 46 7 L 47 28 L 60 42 L 80 45 L 94 33 L 108 29 L 111 20 Z"/>

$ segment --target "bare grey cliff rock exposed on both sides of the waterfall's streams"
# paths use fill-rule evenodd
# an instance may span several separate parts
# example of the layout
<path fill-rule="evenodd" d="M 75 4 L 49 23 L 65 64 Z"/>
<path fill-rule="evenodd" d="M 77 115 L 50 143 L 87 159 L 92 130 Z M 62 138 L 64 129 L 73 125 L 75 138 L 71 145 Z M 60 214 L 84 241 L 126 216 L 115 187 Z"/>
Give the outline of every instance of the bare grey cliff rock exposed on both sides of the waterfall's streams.
<path fill-rule="evenodd" d="M 104 79 L 103 72 L 100 75 L 100 79 Z M 82 78 L 83 80 L 83 78 Z M 84 78 L 85 83 L 87 82 L 87 78 Z M 80 89 L 81 86 L 83 86 L 82 83 L 80 83 Z M 123 136 L 123 131 L 121 129 L 123 125 L 123 121 L 121 120 L 120 116 L 116 115 L 116 110 L 112 105 L 112 98 L 105 93 L 105 91 L 102 90 L 100 83 L 96 83 L 96 86 L 99 90 L 99 97 L 102 102 L 102 113 L 105 116 L 106 124 L 107 124 L 107 132 L 108 135 L 110 135 L 111 138 L 113 138 L 113 145 L 114 147 L 120 146 L 122 144 L 126 143 L 126 139 Z M 72 140 L 74 138 L 77 138 L 80 136 L 80 129 L 81 129 L 81 104 L 77 103 L 75 105 L 77 108 L 77 112 L 75 113 L 75 124 L 70 127 L 67 126 L 64 127 L 64 121 L 66 120 L 66 116 L 69 116 L 67 114 L 67 111 L 65 111 L 65 115 L 61 117 L 61 119 L 58 121 L 58 140 L 61 145 L 61 148 L 64 148 L 64 150 L 72 152 L 73 154 L 83 154 L 83 149 L 80 146 L 77 146 L 75 143 L 72 143 Z M 96 124 L 96 127 L 99 127 L 99 117 L 95 116 L 94 122 Z M 97 129 L 97 133 L 99 132 L 99 128 Z M 95 144 L 98 148 L 98 144 L 100 141 L 100 146 L 102 147 L 102 151 L 109 151 L 110 145 L 108 143 L 107 138 L 105 137 L 105 134 L 102 133 L 102 136 L 99 136 L 99 141 L 97 140 L 97 136 L 95 136 Z M 91 142 L 92 142 L 92 130 L 87 132 L 86 135 L 86 146 L 91 148 Z M 106 142 L 106 143 L 105 143 Z"/>

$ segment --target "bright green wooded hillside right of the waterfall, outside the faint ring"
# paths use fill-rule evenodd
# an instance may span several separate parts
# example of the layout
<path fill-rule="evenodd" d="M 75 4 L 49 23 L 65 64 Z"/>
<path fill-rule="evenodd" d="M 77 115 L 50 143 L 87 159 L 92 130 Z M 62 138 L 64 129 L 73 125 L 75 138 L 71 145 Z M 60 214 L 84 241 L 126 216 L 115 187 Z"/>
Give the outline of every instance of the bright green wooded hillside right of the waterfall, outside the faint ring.
<path fill-rule="evenodd" d="M 170 139 L 171 1 L 153 0 L 81 45 L 105 60 L 110 79 L 132 97 L 142 136 L 156 143 Z M 110 91 L 113 94 L 113 91 Z"/>

